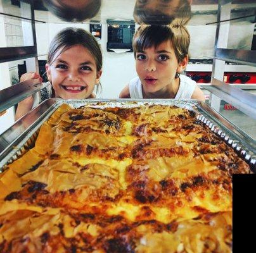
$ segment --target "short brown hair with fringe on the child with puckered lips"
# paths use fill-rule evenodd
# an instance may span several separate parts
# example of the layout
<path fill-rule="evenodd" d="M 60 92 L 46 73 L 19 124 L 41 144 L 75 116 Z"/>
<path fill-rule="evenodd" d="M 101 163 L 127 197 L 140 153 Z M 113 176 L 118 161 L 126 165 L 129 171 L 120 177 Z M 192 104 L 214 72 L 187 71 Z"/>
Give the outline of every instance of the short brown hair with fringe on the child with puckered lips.
<path fill-rule="evenodd" d="M 188 55 L 190 35 L 182 25 L 143 25 L 134 34 L 132 47 L 134 57 L 136 52 L 142 52 L 149 47 L 158 47 L 165 41 L 172 42 L 179 63 Z"/>

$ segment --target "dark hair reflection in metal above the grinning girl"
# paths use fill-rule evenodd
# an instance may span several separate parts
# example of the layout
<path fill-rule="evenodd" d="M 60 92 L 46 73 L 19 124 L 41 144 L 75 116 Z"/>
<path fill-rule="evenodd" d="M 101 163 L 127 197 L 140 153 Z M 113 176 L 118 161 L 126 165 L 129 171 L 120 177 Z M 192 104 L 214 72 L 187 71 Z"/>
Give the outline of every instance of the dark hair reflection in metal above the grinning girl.
<path fill-rule="evenodd" d="M 91 0 L 84 8 L 72 8 L 62 3 L 56 4 L 53 0 L 42 1 L 48 11 L 67 22 L 81 22 L 93 18 L 101 8 L 101 0 Z"/>

